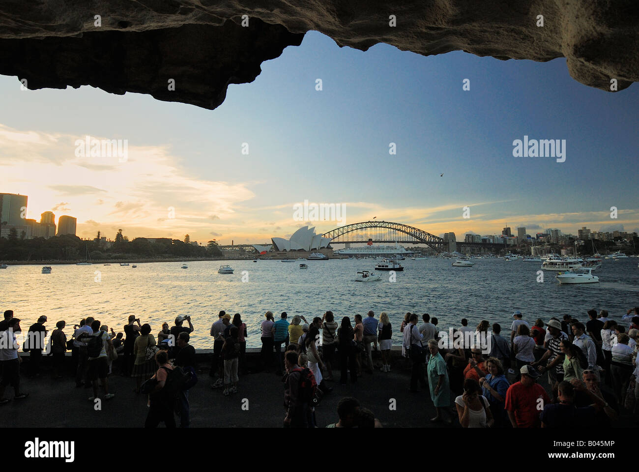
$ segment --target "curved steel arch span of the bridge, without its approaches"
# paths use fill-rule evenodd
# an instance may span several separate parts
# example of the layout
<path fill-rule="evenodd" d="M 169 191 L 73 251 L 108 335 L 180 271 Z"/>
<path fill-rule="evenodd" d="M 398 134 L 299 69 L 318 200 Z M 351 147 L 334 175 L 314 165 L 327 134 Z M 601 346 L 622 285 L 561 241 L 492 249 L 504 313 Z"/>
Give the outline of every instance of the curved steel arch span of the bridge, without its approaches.
<path fill-rule="evenodd" d="M 344 235 L 348 234 L 348 237 Z M 354 236 L 354 237 L 353 237 Z M 322 237 L 331 239 L 338 244 L 367 242 L 412 242 L 414 244 L 427 244 L 436 251 L 443 251 L 443 239 L 427 233 L 419 228 L 413 228 L 408 224 L 391 223 L 389 221 L 363 221 L 362 223 L 347 224 L 335 228 Z"/>

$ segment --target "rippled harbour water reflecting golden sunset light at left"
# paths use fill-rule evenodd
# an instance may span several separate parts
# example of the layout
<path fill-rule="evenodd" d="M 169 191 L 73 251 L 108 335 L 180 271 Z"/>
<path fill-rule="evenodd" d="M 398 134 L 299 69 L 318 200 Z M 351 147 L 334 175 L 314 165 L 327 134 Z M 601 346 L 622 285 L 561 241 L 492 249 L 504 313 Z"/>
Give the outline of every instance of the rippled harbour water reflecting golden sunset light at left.
<path fill-rule="evenodd" d="M 296 261 L 309 265 L 300 270 L 296 263 L 279 260 L 233 260 L 104 266 L 54 265 L 51 274 L 42 274 L 38 265 L 10 265 L 0 271 L 0 310 L 13 310 L 24 331 L 47 315 L 47 329 L 65 320 L 70 337 L 73 324 L 93 316 L 102 324 L 123 331 L 128 315 L 149 323 L 157 336 L 162 322 L 173 326 L 176 315 L 190 315 L 195 327 L 192 344 L 198 349 L 213 346 L 210 327 L 219 310 L 241 313 L 247 324 L 248 347 L 259 347 L 259 324 L 266 310 L 279 318 L 286 311 L 304 315 L 309 322 L 326 310 L 343 316 L 373 310 L 389 313 L 394 343 L 401 343 L 399 326 L 406 311 L 429 313 L 447 331 L 466 318 L 469 326 L 481 320 L 499 322 L 507 331 L 514 310 L 524 319 L 573 315 L 587 320 L 586 310 L 606 309 L 619 319 L 628 308 L 639 306 L 639 269 L 636 258 L 604 260 L 594 272 L 600 283 L 560 285 L 557 272 L 544 272 L 537 282 L 541 264 L 521 260 L 473 259 L 473 267 L 452 267 L 452 260 L 429 258 L 404 260 L 403 272 L 383 273 L 381 281 L 358 283 L 357 271 L 374 269 L 375 260 Z M 218 274 L 221 264 L 229 264 L 234 274 Z M 99 272 L 99 273 L 98 273 Z M 243 281 L 244 280 L 244 281 Z"/>

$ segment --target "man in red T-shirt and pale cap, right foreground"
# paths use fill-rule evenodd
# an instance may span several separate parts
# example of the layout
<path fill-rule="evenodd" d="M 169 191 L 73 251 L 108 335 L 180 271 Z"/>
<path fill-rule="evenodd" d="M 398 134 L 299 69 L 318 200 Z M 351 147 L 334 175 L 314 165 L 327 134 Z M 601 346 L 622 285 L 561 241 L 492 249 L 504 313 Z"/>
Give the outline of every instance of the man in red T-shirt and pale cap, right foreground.
<path fill-rule="evenodd" d="M 513 428 L 539 428 L 539 414 L 550 403 L 544 388 L 537 384 L 539 372 L 533 366 L 523 365 L 521 380 L 506 391 L 505 409 Z"/>

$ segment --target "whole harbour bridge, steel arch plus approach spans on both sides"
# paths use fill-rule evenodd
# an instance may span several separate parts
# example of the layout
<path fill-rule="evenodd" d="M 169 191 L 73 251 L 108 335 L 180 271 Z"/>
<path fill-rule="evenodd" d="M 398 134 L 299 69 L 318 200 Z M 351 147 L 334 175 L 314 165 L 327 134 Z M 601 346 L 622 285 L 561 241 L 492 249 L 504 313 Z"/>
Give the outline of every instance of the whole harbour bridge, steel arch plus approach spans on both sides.
<path fill-rule="evenodd" d="M 390 221 L 362 221 L 361 223 L 346 224 L 327 233 L 322 237 L 331 240 L 331 244 L 362 244 L 367 242 L 387 243 L 387 244 L 426 244 L 429 248 L 437 252 L 460 251 L 475 248 L 486 251 L 499 251 L 505 248 L 505 244 L 489 242 L 457 242 L 449 236 L 447 239 L 435 236 L 419 228 L 408 226 L 403 223 L 393 223 Z M 270 242 L 262 245 L 270 245 Z M 235 244 L 233 246 L 220 246 L 222 249 L 250 248 L 252 244 Z"/>

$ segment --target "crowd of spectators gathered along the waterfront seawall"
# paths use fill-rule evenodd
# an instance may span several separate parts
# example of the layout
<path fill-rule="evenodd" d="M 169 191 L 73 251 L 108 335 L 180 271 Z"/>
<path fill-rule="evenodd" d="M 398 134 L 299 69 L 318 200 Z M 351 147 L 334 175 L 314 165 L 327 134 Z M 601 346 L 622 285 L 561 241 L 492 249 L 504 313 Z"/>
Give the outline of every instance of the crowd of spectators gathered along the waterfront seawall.
<path fill-rule="evenodd" d="M 462 427 L 559 427 L 562 425 L 609 426 L 619 414 L 639 409 L 639 308 L 628 310 L 619 320 L 608 318 L 606 310 L 587 311 L 581 322 L 571 315 L 547 322 L 530 323 L 521 311 L 512 314 L 511 336 L 501 335 L 498 323 L 482 320 L 477 327 L 450 328 L 452 338 L 461 334 L 461 344 L 444 339 L 438 320 L 406 313 L 399 326 L 402 356 L 410 368 L 408 389 L 421 389 L 435 407 L 433 422 L 452 423 L 454 415 Z M 364 373 L 378 369 L 390 372 L 391 365 L 403 365 L 391 356 L 393 326 L 389 315 L 373 311 L 335 320 L 332 311 L 309 323 L 302 315 L 282 312 L 275 320 L 266 311 L 260 325 L 261 354 L 255 370 L 273 372 L 284 384 L 284 426 L 316 427 L 315 410 L 333 389 L 328 382 L 356 384 Z M 109 375 L 135 377 L 132 389 L 148 395 L 146 427 L 164 422 L 189 427 L 189 389 L 197 382 L 196 351 L 189 344 L 194 330 L 188 316 L 178 316 L 174 326 L 164 323 L 154 336 L 150 324 L 134 315 L 122 331 L 102 325 L 93 317 L 73 326 L 67 339 L 66 322 L 60 320 L 47 337 L 47 317 L 41 316 L 27 331 L 22 348 L 29 352 L 27 375 L 40 375 L 43 352 L 52 356 L 52 377 L 59 379 L 72 368 L 77 388 L 91 388 L 90 401 L 114 398 L 109 392 Z M 531 326 L 532 325 L 532 326 Z M 12 386 L 15 400 L 29 394 L 20 389 L 20 320 L 13 311 L 4 312 L 0 322 L 0 405 Z M 242 316 L 220 311 L 210 329 L 213 357 L 210 368 L 213 389 L 233 395 L 240 388 L 240 374 L 249 372 L 245 359 L 249 336 Z M 72 365 L 65 363 L 71 350 Z M 544 378 L 547 375 L 547 382 Z M 334 377 L 335 375 L 335 377 Z M 357 399 L 339 402 L 339 421 L 330 427 L 380 426 L 372 413 L 360 409 Z"/>

